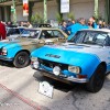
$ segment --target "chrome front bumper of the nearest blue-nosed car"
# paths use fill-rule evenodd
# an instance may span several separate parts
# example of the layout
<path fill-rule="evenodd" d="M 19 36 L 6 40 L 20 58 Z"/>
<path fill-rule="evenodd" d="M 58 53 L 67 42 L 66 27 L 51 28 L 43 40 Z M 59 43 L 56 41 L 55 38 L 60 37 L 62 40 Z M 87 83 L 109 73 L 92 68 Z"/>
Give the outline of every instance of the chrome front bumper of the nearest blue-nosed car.
<path fill-rule="evenodd" d="M 51 77 L 53 79 L 57 79 L 57 80 L 67 80 L 67 81 L 72 81 L 72 82 L 80 82 L 80 84 L 84 84 L 84 82 L 87 82 L 88 79 L 87 78 L 76 78 L 74 76 L 65 76 L 65 75 L 59 75 L 59 76 L 55 76 L 52 72 L 47 72 L 43 68 L 38 68 L 37 69 L 38 72 L 41 72 L 41 74 L 43 74 L 44 76 L 47 76 L 47 77 Z"/>

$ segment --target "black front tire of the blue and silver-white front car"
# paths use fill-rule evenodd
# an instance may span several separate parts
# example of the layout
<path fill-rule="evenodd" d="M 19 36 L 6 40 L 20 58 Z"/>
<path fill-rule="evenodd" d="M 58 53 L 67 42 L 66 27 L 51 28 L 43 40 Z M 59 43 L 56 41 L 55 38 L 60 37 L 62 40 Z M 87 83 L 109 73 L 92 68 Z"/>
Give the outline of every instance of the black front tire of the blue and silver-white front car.
<path fill-rule="evenodd" d="M 89 81 L 86 84 L 86 89 L 90 92 L 98 92 L 103 86 L 105 75 L 106 68 L 102 65 L 99 65 Z"/>

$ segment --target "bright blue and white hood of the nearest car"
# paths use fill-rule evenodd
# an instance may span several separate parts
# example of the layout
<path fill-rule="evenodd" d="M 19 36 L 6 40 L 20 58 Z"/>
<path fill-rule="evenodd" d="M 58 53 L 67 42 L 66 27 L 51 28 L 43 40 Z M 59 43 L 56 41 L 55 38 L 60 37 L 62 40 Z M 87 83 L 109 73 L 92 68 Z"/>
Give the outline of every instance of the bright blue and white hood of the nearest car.
<path fill-rule="evenodd" d="M 100 48 L 99 46 L 97 47 Z M 90 51 L 92 53 L 90 53 Z M 95 47 L 66 43 L 62 45 L 43 46 L 32 52 L 31 55 L 47 61 L 80 66 L 86 61 L 90 61 L 90 63 L 96 59 L 99 61 L 95 53 Z"/>

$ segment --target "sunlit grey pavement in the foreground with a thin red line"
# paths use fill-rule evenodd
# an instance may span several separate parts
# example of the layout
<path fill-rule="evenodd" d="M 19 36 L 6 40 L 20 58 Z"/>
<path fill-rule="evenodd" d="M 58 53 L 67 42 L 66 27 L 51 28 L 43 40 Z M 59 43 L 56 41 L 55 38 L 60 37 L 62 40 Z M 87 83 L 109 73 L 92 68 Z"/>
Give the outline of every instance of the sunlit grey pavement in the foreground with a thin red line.
<path fill-rule="evenodd" d="M 38 81 L 43 80 L 54 86 L 53 98 L 37 92 Z M 84 85 L 72 87 L 44 78 L 30 66 L 19 69 L 0 65 L 0 110 L 33 110 L 34 107 L 36 110 L 110 110 L 110 75 L 99 92 L 90 94 Z M 23 97 L 23 100 L 2 86 Z"/>

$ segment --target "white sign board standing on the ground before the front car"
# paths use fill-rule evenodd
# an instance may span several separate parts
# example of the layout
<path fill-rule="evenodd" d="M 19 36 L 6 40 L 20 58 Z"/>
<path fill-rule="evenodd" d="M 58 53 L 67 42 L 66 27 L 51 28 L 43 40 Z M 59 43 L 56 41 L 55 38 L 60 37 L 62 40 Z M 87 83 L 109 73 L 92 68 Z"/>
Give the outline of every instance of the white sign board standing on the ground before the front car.
<path fill-rule="evenodd" d="M 53 91 L 54 91 L 53 86 L 50 85 L 47 81 L 40 82 L 40 86 L 38 86 L 40 94 L 42 94 L 46 97 L 53 98 Z"/>

